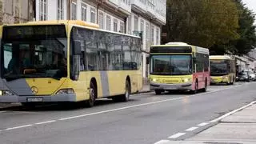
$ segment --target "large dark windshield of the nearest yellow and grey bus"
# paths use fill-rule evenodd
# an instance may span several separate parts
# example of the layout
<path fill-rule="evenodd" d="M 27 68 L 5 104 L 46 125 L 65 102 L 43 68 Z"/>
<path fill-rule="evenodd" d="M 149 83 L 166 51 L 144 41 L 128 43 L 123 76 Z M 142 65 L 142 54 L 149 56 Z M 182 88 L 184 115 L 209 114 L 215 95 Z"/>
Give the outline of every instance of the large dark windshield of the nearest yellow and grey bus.
<path fill-rule="evenodd" d="M 8 81 L 18 78 L 60 79 L 67 76 L 67 38 L 62 30 L 59 34 L 49 34 L 52 28 L 48 26 L 41 26 L 38 32 L 33 26 L 26 26 L 20 31 L 31 30 L 29 34 L 15 34 L 16 30 L 12 28 L 16 29 L 8 27 L 3 33 L 3 78 Z M 8 34 L 10 31 L 13 34 Z"/>

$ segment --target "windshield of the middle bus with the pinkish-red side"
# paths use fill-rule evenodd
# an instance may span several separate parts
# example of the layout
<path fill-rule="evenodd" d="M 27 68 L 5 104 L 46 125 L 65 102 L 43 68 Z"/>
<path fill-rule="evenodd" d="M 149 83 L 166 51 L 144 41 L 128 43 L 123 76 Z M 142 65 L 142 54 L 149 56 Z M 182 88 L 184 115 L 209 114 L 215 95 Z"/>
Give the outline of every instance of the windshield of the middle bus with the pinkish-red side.
<path fill-rule="evenodd" d="M 192 74 L 191 55 L 152 55 L 150 61 L 150 74 Z"/>

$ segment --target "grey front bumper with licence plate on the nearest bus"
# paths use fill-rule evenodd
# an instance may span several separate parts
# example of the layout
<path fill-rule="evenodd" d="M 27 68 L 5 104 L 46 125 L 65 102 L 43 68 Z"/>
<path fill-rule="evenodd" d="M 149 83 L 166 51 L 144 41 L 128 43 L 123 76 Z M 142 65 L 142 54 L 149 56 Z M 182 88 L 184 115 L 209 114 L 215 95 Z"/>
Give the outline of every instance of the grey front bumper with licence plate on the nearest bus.
<path fill-rule="evenodd" d="M 0 95 L 1 102 L 76 102 L 75 94 L 38 96 Z"/>

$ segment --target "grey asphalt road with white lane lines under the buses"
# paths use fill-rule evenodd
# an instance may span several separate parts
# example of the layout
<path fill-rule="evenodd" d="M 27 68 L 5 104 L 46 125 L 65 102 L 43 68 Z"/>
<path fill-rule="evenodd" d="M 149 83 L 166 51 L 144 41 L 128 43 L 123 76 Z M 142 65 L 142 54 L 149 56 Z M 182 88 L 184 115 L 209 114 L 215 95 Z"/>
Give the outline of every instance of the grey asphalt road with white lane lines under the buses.
<path fill-rule="evenodd" d="M 210 86 L 199 94 L 137 94 L 130 102 L 102 99 L 93 108 L 18 106 L 0 111 L 0 143 L 154 143 L 254 101 L 255 87 L 255 82 L 242 82 Z"/>

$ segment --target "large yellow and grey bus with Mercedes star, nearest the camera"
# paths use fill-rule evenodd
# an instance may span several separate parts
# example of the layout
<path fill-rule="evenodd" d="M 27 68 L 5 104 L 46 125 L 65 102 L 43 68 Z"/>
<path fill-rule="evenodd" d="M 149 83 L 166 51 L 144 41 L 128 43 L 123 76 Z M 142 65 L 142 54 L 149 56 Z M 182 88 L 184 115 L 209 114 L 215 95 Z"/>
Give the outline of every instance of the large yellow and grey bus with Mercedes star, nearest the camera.
<path fill-rule="evenodd" d="M 126 102 L 142 89 L 141 38 L 82 21 L 2 26 L 0 102 Z"/>

